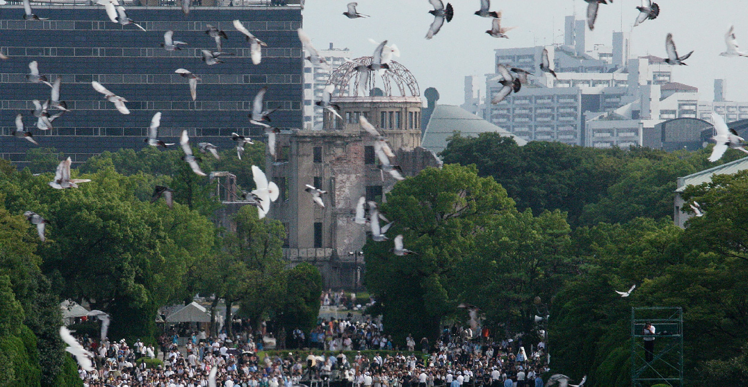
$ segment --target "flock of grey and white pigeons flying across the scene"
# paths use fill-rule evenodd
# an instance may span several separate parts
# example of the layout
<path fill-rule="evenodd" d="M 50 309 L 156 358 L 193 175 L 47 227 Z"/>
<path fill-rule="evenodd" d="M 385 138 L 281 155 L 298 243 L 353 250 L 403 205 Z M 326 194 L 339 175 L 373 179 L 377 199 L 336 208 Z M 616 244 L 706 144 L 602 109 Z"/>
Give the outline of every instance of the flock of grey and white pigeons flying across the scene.
<path fill-rule="evenodd" d="M 182 10 L 185 15 L 189 13 L 190 1 L 191 0 L 181 1 Z M 608 4 L 608 1 L 612 3 L 613 0 L 585 1 L 588 3 L 586 15 L 587 25 L 589 26 L 589 29 L 592 30 L 595 27 L 595 19 L 597 18 L 599 5 Z M 436 34 L 438 34 L 444 23 L 450 22 L 454 16 L 454 8 L 452 4 L 447 3 L 446 5 L 444 5 L 444 2 L 441 0 L 429 0 L 429 3 L 432 5 L 432 7 L 434 7 L 433 10 L 429 10 L 429 13 L 434 16 L 434 20 L 429 26 L 429 30 L 426 34 L 426 39 L 432 39 Z M 23 4 L 25 10 L 25 13 L 23 15 L 24 19 L 48 19 L 40 18 L 39 16 L 32 13 L 29 0 L 24 0 Z M 120 5 L 119 0 L 98 0 L 96 1 L 96 4 L 104 6 L 106 14 L 111 22 L 116 22 L 121 25 L 132 24 L 135 25 L 135 27 L 140 28 L 142 31 L 145 31 L 145 28 L 143 28 L 141 25 L 138 25 L 138 23 L 136 23 L 126 15 L 126 10 Z M 343 13 L 343 15 L 348 17 L 349 19 L 357 19 L 369 16 L 364 13 L 359 13 L 357 7 L 358 3 L 356 2 L 347 4 L 347 10 Z M 637 19 L 634 24 L 635 26 L 640 25 L 642 22 L 645 22 L 648 19 L 657 18 L 660 13 L 660 7 L 656 3 L 653 3 L 651 0 L 642 0 L 642 5 L 640 7 L 637 7 L 637 10 L 639 10 L 640 13 L 637 15 Z M 490 0 L 480 0 L 480 9 L 477 10 L 474 14 L 477 16 L 492 19 L 491 29 L 485 31 L 485 33 L 491 35 L 491 37 L 508 38 L 506 32 L 511 31 L 514 28 L 502 26 L 501 11 L 491 11 Z M 245 28 L 245 25 L 241 21 L 234 20 L 233 26 L 234 28 L 236 28 L 236 31 L 239 31 L 243 35 L 243 37 L 245 37 L 245 40 L 250 45 L 252 63 L 260 64 L 260 61 L 262 61 L 262 48 L 267 47 L 267 43 L 255 37 L 254 34 L 248 31 L 247 28 Z M 200 51 L 201 59 L 206 65 L 224 63 L 224 61 L 221 59 L 221 56 L 233 55 L 222 51 L 222 40 L 227 40 L 228 34 L 226 33 L 226 31 L 221 31 L 212 25 L 206 25 L 206 27 L 208 29 L 205 31 L 205 33 L 215 41 L 215 50 L 202 49 Z M 299 28 L 297 32 L 298 38 L 303 44 L 305 51 L 309 53 L 309 56 L 307 56 L 306 60 L 310 61 L 311 64 L 314 64 L 316 66 L 322 66 L 326 69 L 330 69 L 330 65 L 327 63 L 327 61 L 325 61 L 325 58 L 322 57 L 319 51 L 317 51 L 312 45 L 310 37 L 308 37 L 307 34 L 305 34 L 303 30 L 301 30 L 301 28 Z M 728 33 L 726 34 L 725 40 L 727 49 L 726 52 L 723 52 L 720 55 L 728 57 L 748 56 L 746 52 L 738 51 L 738 43 L 735 39 L 734 28 L 731 27 L 729 29 Z M 166 51 L 181 50 L 181 46 L 186 45 L 188 45 L 188 43 L 182 42 L 180 40 L 174 40 L 174 31 L 166 31 L 164 34 L 164 42 L 160 43 L 160 46 L 162 46 L 162 48 Z M 672 34 L 667 34 L 665 40 L 665 48 L 667 52 L 667 58 L 665 62 L 671 65 L 685 65 L 684 61 L 689 58 L 691 54 L 693 54 L 693 51 L 691 51 L 686 55 L 679 56 L 678 52 L 675 49 L 675 43 L 672 39 Z M 355 64 L 355 69 L 358 72 L 361 72 L 360 85 L 362 87 L 365 87 L 370 72 L 389 69 L 389 63 L 393 55 L 399 56 L 399 50 L 395 45 L 387 46 L 387 40 L 384 40 L 384 42 L 378 43 L 378 46 L 375 49 L 372 60 L 369 64 L 361 64 L 349 59 L 347 61 Z M 0 54 L 0 59 L 7 60 L 8 57 Z M 40 102 L 40 100 L 38 99 L 33 100 L 35 109 L 31 112 L 31 114 L 33 114 L 33 116 L 37 118 L 38 129 L 53 129 L 52 122 L 58 117 L 61 117 L 62 114 L 70 111 L 67 108 L 67 104 L 64 101 L 60 100 L 60 86 L 62 79 L 60 76 L 57 76 L 55 78 L 55 81 L 53 83 L 50 83 L 45 75 L 40 75 L 38 64 L 36 61 L 32 61 L 31 63 L 29 63 L 28 67 L 30 70 L 28 75 L 26 75 L 28 81 L 30 81 L 31 83 L 47 84 L 52 88 L 49 99 L 46 99 L 45 102 Z M 542 52 L 542 61 L 539 64 L 539 69 L 542 72 L 547 72 L 556 77 L 554 69 L 551 68 L 551 62 L 548 59 L 548 50 L 546 49 L 544 49 Z M 187 78 L 190 96 L 192 100 L 197 99 L 197 81 L 200 81 L 200 77 L 198 75 L 195 75 L 193 72 L 183 68 L 176 69 L 174 72 L 182 75 L 184 78 Z M 499 77 L 497 77 L 497 79 L 500 78 L 500 84 L 502 84 L 503 87 L 500 89 L 499 93 L 497 93 L 497 95 L 494 96 L 494 98 L 491 100 L 491 103 L 493 104 L 497 104 L 503 101 L 503 99 L 505 99 L 506 96 L 509 96 L 510 93 L 518 93 L 521 90 L 521 85 L 527 84 L 527 75 L 533 75 L 530 71 L 527 71 L 525 69 L 515 67 L 508 68 L 503 64 L 497 65 L 497 72 L 500 75 Z M 128 102 L 127 99 L 123 98 L 122 96 L 117 96 L 117 94 L 111 92 L 102 84 L 99 84 L 99 82 L 97 81 L 92 81 L 91 86 L 93 87 L 93 90 L 102 93 L 105 99 L 107 99 L 109 102 L 112 102 L 114 104 L 114 107 L 117 108 L 117 111 L 120 111 L 121 114 L 129 114 L 129 110 L 126 107 L 126 102 Z M 269 117 L 270 114 L 272 114 L 273 111 L 278 110 L 278 108 L 264 108 L 263 99 L 267 91 L 268 87 L 263 87 L 260 91 L 257 92 L 257 95 L 254 97 L 252 112 L 251 114 L 249 114 L 249 121 L 254 125 L 262 126 L 263 129 L 265 129 L 265 134 L 268 137 L 267 143 L 269 146 L 269 153 L 275 157 L 275 136 L 276 134 L 281 133 L 281 131 L 280 129 L 273 128 L 268 124 L 269 122 L 271 122 L 271 119 Z M 334 93 L 334 85 L 328 85 L 328 87 L 325 88 L 325 93 L 322 96 L 322 100 L 316 102 L 316 105 L 319 105 L 325 110 L 331 111 L 331 113 L 333 113 L 337 117 L 342 118 L 337 112 L 340 108 L 333 102 L 331 102 L 332 93 Z M 55 114 L 50 114 L 50 110 L 53 108 L 57 109 L 58 112 L 56 112 Z M 728 129 L 719 115 L 713 114 L 713 119 L 714 127 L 717 131 L 717 134 L 713 137 L 713 139 L 717 142 L 717 146 L 714 147 L 714 151 L 709 158 L 710 161 L 717 161 L 718 159 L 720 159 L 723 153 L 728 148 L 741 149 L 742 151 L 748 153 L 748 150 L 743 146 L 742 142 L 744 141 L 744 139 L 742 137 L 739 137 L 734 130 Z M 156 112 L 156 114 L 153 115 L 150 123 L 148 137 L 144 140 L 144 142 L 149 146 L 162 146 L 164 148 L 168 148 L 168 146 L 172 146 L 174 145 L 174 143 L 165 143 L 163 140 L 159 140 L 158 128 L 160 122 L 161 112 Z M 392 149 L 390 149 L 390 146 L 387 144 L 387 139 L 383 137 L 375 129 L 375 127 L 371 125 L 363 116 L 360 117 L 360 124 L 361 128 L 367 131 L 367 133 L 370 134 L 371 137 L 373 137 L 375 157 L 379 161 L 379 168 L 382 173 L 382 179 L 384 180 L 384 172 L 390 173 L 390 175 L 394 179 L 404 179 L 402 177 L 402 170 L 400 169 L 400 167 L 390 163 L 390 158 L 394 158 L 395 155 L 392 152 Z M 38 145 L 31 131 L 25 129 L 23 123 L 23 114 L 18 114 L 16 116 L 15 136 L 31 141 L 31 143 Z M 244 152 L 245 144 L 254 143 L 250 137 L 245 137 L 241 134 L 236 133 L 232 134 L 232 140 L 234 140 L 236 143 L 236 152 L 239 159 L 242 158 L 242 152 Z M 204 173 L 200 169 L 200 164 L 198 163 L 199 161 L 201 161 L 200 157 L 195 156 L 192 151 L 187 131 L 183 131 L 180 136 L 180 147 L 183 149 L 184 153 L 183 161 L 185 161 L 189 165 L 191 170 L 199 176 L 206 176 L 206 173 Z M 198 143 L 197 149 L 202 154 L 210 153 L 215 158 L 220 158 L 220 156 L 218 155 L 218 147 L 211 143 Z M 78 188 L 79 183 L 91 181 L 89 179 L 71 179 L 70 163 L 70 158 L 67 158 L 67 160 L 61 161 L 61 163 L 58 165 L 57 171 L 55 173 L 55 178 L 52 180 L 52 182 L 49 182 L 49 185 L 52 186 L 52 188 Z M 249 202 L 249 204 L 257 207 L 259 217 L 263 218 L 269 212 L 270 203 L 275 202 L 275 200 L 278 199 L 279 190 L 278 186 L 275 185 L 274 182 L 269 182 L 265 173 L 263 173 L 263 171 L 260 170 L 259 167 L 253 165 L 251 167 L 251 170 L 253 173 L 253 179 L 256 185 L 256 189 L 249 193 L 243 193 L 243 196 L 244 199 Z M 316 205 L 319 205 L 320 207 L 325 206 L 322 195 L 327 193 L 326 191 L 322 191 L 321 189 L 313 187 L 312 185 L 307 185 L 307 188 L 305 188 L 304 191 L 310 193 L 312 201 L 316 203 Z M 172 193 L 174 193 L 174 190 L 172 190 L 171 188 L 160 185 L 156 186 L 153 191 L 152 202 L 155 202 L 159 198 L 164 197 L 167 205 L 171 208 L 171 205 L 173 204 Z M 691 207 L 696 212 L 696 216 L 703 215 L 701 207 L 698 203 L 694 202 Z M 41 217 L 39 214 L 34 213 L 33 211 L 26 211 L 24 215 L 32 225 L 37 226 L 37 232 L 40 240 L 46 241 L 44 228 L 46 224 L 49 224 L 49 221 Z M 380 220 L 387 222 L 387 224 L 381 226 Z M 387 232 L 387 229 L 389 229 L 393 224 L 392 222 L 387 220 L 386 217 L 384 217 L 384 214 L 381 214 L 381 211 L 378 209 L 376 202 L 367 202 L 365 196 L 361 196 L 361 198 L 358 200 L 358 205 L 356 206 L 355 211 L 355 223 L 369 225 L 373 241 L 387 241 L 389 238 L 387 238 L 385 233 Z M 393 254 L 397 256 L 414 254 L 414 252 L 403 247 L 402 235 L 397 235 L 394 238 L 393 242 L 394 247 L 390 250 Z M 628 297 L 629 294 L 634 291 L 634 288 L 636 288 L 636 285 L 632 286 L 631 289 L 626 292 L 616 291 L 616 293 L 620 294 L 621 297 Z M 102 321 L 106 319 L 106 326 L 108 326 L 108 315 L 100 311 L 93 312 L 97 312 L 95 315 L 98 316 Z M 78 362 L 82 366 L 82 368 L 91 369 L 91 360 L 88 359 L 88 356 L 90 354 L 87 353 L 83 349 L 83 347 L 77 343 L 76 339 L 73 338 L 72 335 L 70 335 L 70 332 L 68 332 L 64 326 L 61 327 L 60 334 L 63 340 L 68 344 L 67 350 L 76 356 L 76 359 L 78 359 Z M 102 338 L 105 338 L 104 327 L 102 327 Z M 211 377 L 213 383 L 212 385 L 215 385 L 215 368 L 211 371 Z M 561 387 L 579 387 L 583 386 L 586 381 L 586 377 L 584 377 L 581 380 L 580 384 L 576 386 L 568 384 L 569 380 L 570 379 L 564 375 L 556 374 L 552 376 L 550 380 L 548 380 L 546 386 L 558 384 Z"/>

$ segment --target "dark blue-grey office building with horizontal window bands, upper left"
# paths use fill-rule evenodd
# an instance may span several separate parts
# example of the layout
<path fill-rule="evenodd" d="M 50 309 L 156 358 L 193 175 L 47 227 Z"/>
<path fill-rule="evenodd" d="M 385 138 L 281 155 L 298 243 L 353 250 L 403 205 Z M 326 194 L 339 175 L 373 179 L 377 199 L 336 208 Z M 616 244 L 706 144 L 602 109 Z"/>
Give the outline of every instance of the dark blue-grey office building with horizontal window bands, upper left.
<path fill-rule="evenodd" d="M 257 90 L 269 87 L 268 108 L 273 126 L 301 128 L 303 100 L 301 27 L 303 0 L 193 0 L 185 16 L 180 1 L 125 1 L 127 16 L 135 25 L 111 22 L 95 1 L 53 0 L 31 3 L 34 13 L 49 20 L 24 20 L 20 1 L 0 7 L 0 157 L 23 161 L 33 144 L 13 137 L 16 114 L 43 147 L 55 147 L 73 161 L 120 148 L 145 146 L 147 128 L 156 111 L 162 112 L 159 137 L 178 142 L 188 129 L 193 143 L 207 141 L 231 147 L 231 132 L 258 135 L 260 127 L 249 123 Z M 225 3 L 225 4 L 224 4 Z M 16 5 L 13 5 L 16 4 Z M 252 64 L 249 44 L 233 27 L 233 19 L 268 43 L 263 60 Z M 206 25 L 226 31 L 223 64 L 208 66 L 200 60 L 201 49 L 215 50 L 205 34 Z M 165 51 L 165 31 L 174 40 L 188 43 L 180 51 Z M 46 84 L 26 79 L 28 64 L 37 61 L 49 81 L 62 78 L 61 100 L 70 113 L 53 122 L 54 129 L 37 129 L 31 114 L 33 99 L 50 96 Z M 197 100 L 192 101 L 188 81 L 175 73 L 184 68 L 202 78 Z M 112 102 L 91 87 L 99 81 L 111 92 L 129 100 L 130 114 L 120 114 Z M 57 110 L 50 109 L 50 114 Z"/>

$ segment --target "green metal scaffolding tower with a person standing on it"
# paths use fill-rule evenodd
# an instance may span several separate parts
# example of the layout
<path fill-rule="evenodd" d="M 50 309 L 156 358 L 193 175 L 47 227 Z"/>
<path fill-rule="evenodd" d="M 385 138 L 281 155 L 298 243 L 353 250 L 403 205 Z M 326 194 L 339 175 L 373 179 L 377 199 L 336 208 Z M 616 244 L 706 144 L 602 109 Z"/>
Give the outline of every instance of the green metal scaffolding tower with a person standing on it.
<path fill-rule="evenodd" d="M 643 339 L 646 323 L 654 326 L 652 361 L 646 361 Z M 681 307 L 631 308 L 631 386 L 657 383 L 683 386 L 683 309 Z"/>

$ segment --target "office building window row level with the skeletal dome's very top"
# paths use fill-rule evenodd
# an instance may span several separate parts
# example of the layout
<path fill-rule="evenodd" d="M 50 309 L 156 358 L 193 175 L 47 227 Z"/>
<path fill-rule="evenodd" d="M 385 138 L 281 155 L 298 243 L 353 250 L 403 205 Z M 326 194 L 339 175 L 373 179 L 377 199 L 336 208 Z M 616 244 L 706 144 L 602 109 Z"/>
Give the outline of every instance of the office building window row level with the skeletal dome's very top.
<path fill-rule="evenodd" d="M 200 49 L 181 49 L 166 51 L 159 47 L 153 48 L 120 48 L 120 47 L 3 47 L 0 51 L 7 56 L 14 57 L 117 57 L 117 58 L 171 58 L 186 57 L 200 58 Z M 251 49 L 224 48 L 224 52 L 234 55 L 224 55 L 221 59 L 251 58 Z M 301 49 L 269 47 L 263 48 L 263 58 L 301 58 Z"/>

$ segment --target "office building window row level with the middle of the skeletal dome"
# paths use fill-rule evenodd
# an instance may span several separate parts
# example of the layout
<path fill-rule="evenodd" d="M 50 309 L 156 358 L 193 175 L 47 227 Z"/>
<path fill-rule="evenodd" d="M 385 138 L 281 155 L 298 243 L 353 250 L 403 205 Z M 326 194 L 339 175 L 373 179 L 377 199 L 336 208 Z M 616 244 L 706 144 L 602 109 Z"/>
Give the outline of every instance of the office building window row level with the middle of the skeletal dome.
<path fill-rule="evenodd" d="M 200 75 L 201 84 L 298 84 L 298 74 L 209 74 Z M 61 77 L 63 83 L 90 84 L 98 81 L 102 84 L 186 84 L 186 79 L 179 74 L 58 74 L 48 76 L 49 81 Z M 0 82 L 28 83 L 25 74 L 0 74 Z"/>

